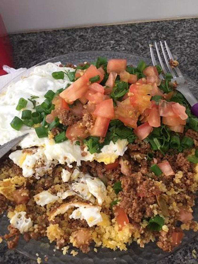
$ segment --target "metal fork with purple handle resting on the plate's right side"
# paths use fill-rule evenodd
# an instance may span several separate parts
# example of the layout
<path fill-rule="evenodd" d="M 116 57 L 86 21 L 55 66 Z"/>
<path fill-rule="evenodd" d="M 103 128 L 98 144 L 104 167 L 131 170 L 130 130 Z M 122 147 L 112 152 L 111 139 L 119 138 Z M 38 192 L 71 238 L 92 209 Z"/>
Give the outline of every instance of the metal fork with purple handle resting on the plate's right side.
<path fill-rule="evenodd" d="M 164 45 L 165 45 L 165 47 L 164 47 Z M 158 65 L 158 63 L 157 63 L 156 58 L 154 56 L 153 45 L 150 44 L 149 47 L 150 47 L 152 63 L 154 66 L 156 66 L 156 65 Z M 169 59 L 174 60 L 174 57 L 173 57 L 170 49 L 168 48 L 167 42 L 164 41 L 164 44 L 163 44 L 163 42 L 160 41 L 161 52 L 163 54 L 163 59 L 164 59 L 165 63 L 163 62 L 162 56 L 160 54 L 160 49 L 158 48 L 157 42 L 154 43 L 154 47 L 155 47 L 156 52 L 157 52 L 157 56 L 158 56 L 160 66 L 163 70 L 163 72 L 159 76 L 160 79 L 164 79 L 163 74 L 171 73 L 171 75 L 173 77 L 172 81 L 173 82 L 176 81 L 178 83 L 178 86 L 176 88 L 177 91 L 182 93 L 182 95 L 186 98 L 186 100 L 191 105 L 192 113 L 198 117 L 198 101 L 197 101 L 197 99 L 194 97 L 194 95 L 192 95 L 191 91 L 189 90 L 187 83 L 185 82 L 185 79 L 184 79 L 180 69 L 178 68 L 178 66 L 171 68 L 171 66 L 169 64 Z M 168 55 L 169 59 L 167 58 L 167 55 Z"/>

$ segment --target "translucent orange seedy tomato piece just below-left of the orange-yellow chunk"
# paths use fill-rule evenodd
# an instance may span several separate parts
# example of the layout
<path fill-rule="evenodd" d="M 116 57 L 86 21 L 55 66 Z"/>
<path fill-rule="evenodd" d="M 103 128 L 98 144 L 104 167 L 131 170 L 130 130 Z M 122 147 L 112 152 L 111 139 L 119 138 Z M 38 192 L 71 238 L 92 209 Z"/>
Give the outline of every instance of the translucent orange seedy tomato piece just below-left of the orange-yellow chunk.
<path fill-rule="evenodd" d="M 138 116 L 132 105 L 120 104 L 114 108 L 114 118 L 122 121 L 125 126 L 137 128 Z"/>

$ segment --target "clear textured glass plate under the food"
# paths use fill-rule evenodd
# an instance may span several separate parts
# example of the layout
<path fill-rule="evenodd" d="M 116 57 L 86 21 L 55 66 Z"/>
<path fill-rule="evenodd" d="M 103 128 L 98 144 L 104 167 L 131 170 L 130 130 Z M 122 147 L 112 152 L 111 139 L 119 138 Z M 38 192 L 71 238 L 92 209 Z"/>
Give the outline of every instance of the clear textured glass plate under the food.
<path fill-rule="evenodd" d="M 149 59 L 141 58 L 133 54 L 127 54 L 127 53 L 122 53 L 122 52 L 112 52 L 112 51 L 84 51 L 84 52 L 70 53 L 70 54 L 57 56 L 55 58 L 41 62 L 37 65 L 42 65 L 47 62 L 61 62 L 63 64 L 65 63 L 79 64 L 85 61 L 86 62 L 95 61 L 98 56 L 106 56 L 108 59 L 125 58 L 127 59 L 127 63 L 132 64 L 132 65 L 137 65 L 138 61 L 140 59 L 143 59 L 146 61 L 147 64 L 152 65 L 151 60 Z M 18 81 L 21 78 L 21 76 L 28 76 L 32 68 L 21 73 L 20 75 L 15 77 L 11 82 Z M 189 84 L 190 90 L 192 91 L 192 93 L 194 93 L 194 95 L 196 95 L 196 92 L 197 92 L 196 84 L 187 77 L 186 77 L 186 80 L 187 80 L 187 83 Z M 6 89 L 6 87 L 4 87 L 3 89 Z M 194 214 L 193 214 L 194 219 L 198 220 L 197 201 L 193 209 L 194 209 Z M 1 235 L 4 235 L 5 233 L 7 233 L 8 224 L 9 224 L 9 221 L 7 217 L 5 215 L 1 216 L 0 217 L 0 234 Z M 191 242 L 192 239 L 195 238 L 196 236 L 197 234 L 194 233 L 192 230 L 185 232 L 185 237 L 183 238 L 182 243 L 180 244 L 179 247 L 175 248 L 173 252 L 182 248 L 185 244 Z M 56 250 L 54 252 L 53 251 L 54 248 L 55 248 L 55 244 L 53 243 L 49 244 L 49 240 L 47 238 L 40 239 L 39 241 L 31 239 L 28 243 L 26 243 L 25 240 L 21 236 L 21 239 L 19 240 L 19 244 L 16 250 L 34 260 L 36 260 L 37 256 L 39 255 L 39 257 L 41 257 L 42 259 L 42 263 L 46 263 L 44 261 L 44 258 L 47 256 L 48 257 L 47 263 L 49 264 L 64 264 L 64 263 L 67 263 L 67 264 L 69 263 L 73 263 L 73 264 L 100 264 L 100 263 L 146 264 L 146 263 L 152 263 L 152 262 L 158 261 L 173 253 L 173 252 L 171 253 L 163 252 L 160 248 L 156 246 L 155 243 L 148 243 L 147 245 L 145 245 L 144 248 L 140 248 L 135 242 L 133 242 L 130 246 L 128 246 L 127 251 L 120 251 L 120 250 L 113 251 L 108 248 L 99 247 L 97 248 L 98 252 L 96 253 L 93 251 L 94 245 L 92 245 L 90 252 L 88 252 L 87 254 L 84 254 L 81 251 L 78 251 L 79 253 L 75 257 L 73 257 L 70 254 L 63 255 L 61 250 Z M 73 248 L 70 246 L 70 249 L 73 249 Z"/>

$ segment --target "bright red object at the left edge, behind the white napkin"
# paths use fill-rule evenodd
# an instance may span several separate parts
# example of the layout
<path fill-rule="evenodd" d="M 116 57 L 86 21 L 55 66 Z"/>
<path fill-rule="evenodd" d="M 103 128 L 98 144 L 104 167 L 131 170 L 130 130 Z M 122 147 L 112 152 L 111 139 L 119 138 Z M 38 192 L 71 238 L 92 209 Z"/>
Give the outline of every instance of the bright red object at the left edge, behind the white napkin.
<path fill-rule="evenodd" d="M 13 67 L 13 59 L 12 59 L 9 37 L 6 32 L 3 19 L 0 15 L 0 75 L 7 74 L 3 70 L 3 65 L 8 65 L 10 67 Z"/>

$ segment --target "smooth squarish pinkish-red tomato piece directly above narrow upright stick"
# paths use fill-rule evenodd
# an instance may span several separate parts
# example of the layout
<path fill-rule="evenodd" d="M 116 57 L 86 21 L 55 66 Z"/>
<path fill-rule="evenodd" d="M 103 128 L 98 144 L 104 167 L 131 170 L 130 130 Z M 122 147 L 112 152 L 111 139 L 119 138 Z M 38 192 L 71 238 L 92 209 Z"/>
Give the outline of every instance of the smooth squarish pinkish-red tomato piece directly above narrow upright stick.
<path fill-rule="evenodd" d="M 114 117 L 113 99 L 107 99 L 96 105 L 93 115 L 112 119 Z"/>

